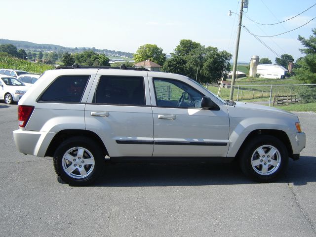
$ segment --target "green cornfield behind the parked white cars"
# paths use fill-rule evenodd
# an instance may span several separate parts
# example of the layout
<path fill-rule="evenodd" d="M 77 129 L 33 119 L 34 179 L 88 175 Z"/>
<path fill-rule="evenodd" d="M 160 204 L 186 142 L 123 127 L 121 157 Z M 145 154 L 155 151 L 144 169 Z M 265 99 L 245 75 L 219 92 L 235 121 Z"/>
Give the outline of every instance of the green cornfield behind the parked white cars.
<path fill-rule="evenodd" d="M 42 63 L 33 63 L 28 62 L 22 59 L 17 58 L 9 58 L 9 57 L 0 57 L 0 69 L 7 68 L 7 69 L 16 69 L 27 71 L 30 73 L 40 73 L 42 74 L 46 70 L 55 69 L 52 65 L 42 64 Z"/>

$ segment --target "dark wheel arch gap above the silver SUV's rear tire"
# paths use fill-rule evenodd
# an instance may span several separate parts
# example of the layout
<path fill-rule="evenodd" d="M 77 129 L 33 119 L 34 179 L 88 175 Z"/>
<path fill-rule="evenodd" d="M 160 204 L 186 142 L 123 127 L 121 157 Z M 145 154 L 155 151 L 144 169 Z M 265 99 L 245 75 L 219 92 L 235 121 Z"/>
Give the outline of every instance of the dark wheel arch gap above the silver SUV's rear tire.
<path fill-rule="evenodd" d="M 54 138 L 52 139 L 52 141 L 50 142 L 46 150 L 45 157 L 53 157 L 59 145 L 66 139 L 74 137 L 74 136 L 84 136 L 84 137 L 88 137 L 92 139 L 100 146 L 105 156 L 109 154 L 101 138 L 96 133 L 88 131 L 88 130 L 70 129 L 70 130 L 59 131 L 54 136 Z"/>

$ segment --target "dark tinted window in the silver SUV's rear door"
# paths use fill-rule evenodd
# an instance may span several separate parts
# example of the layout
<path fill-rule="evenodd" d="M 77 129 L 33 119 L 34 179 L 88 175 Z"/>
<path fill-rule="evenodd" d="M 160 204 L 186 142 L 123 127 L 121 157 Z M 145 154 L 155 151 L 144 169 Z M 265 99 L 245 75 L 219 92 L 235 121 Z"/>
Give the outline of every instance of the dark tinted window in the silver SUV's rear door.
<path fill-rule="evenodd" d="M 100 104 L 145 105 L 144 78 L 102 76 L 93 102 Z"/>

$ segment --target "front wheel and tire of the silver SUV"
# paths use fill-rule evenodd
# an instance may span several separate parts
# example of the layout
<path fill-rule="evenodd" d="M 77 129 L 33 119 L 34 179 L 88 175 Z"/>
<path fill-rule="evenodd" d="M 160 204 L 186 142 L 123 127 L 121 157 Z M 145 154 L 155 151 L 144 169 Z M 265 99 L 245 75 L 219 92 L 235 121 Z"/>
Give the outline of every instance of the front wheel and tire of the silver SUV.
<path fill-rule="evenodd" d="M 242 172 L 257 182 L 276 180 L 286 169 L 288 152 L 276 137 L 260 135 L 253 138 L 239 154 Z"/>

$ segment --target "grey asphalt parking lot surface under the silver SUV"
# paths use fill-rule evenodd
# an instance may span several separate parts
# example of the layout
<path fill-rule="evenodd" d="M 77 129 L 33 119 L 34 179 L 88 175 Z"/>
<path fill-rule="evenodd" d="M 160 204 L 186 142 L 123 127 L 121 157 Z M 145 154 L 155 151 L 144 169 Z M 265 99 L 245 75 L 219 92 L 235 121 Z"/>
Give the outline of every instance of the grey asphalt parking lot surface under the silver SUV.
<path fill-rule="evenodd" d="M 254 183 L 237 163 L 108 165 L 71 187 L 52 158 L 20 154 L 17 105 L 0 102 L 0 236 L 316 236 L 316 114 L 296 113 L 307 147 L 277 182 Z"/>

